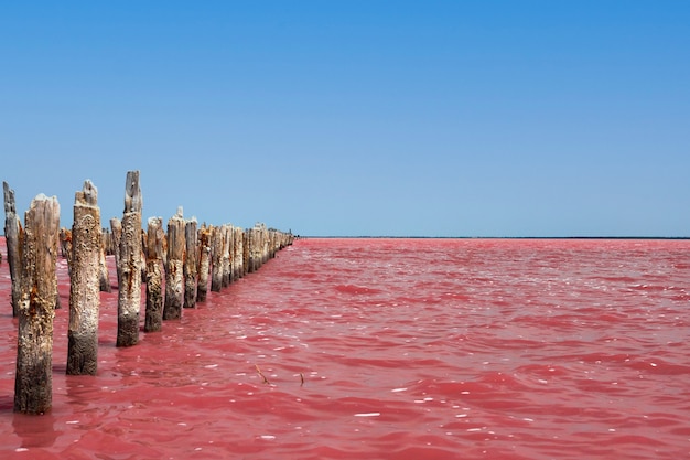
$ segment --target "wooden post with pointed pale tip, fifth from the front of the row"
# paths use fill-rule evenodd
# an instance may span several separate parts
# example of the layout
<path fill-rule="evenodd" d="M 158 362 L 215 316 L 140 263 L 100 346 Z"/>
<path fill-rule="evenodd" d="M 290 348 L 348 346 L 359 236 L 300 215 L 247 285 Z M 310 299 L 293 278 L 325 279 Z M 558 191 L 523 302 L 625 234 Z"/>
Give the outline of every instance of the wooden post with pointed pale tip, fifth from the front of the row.
<path fill-rule="evenodd" d="M 177 207 L 177 214 L 168 221 L 164 320 L 182 318 L 184 248 L 184 218 L 182 217 L 182 207 Z"/>

